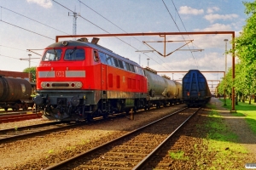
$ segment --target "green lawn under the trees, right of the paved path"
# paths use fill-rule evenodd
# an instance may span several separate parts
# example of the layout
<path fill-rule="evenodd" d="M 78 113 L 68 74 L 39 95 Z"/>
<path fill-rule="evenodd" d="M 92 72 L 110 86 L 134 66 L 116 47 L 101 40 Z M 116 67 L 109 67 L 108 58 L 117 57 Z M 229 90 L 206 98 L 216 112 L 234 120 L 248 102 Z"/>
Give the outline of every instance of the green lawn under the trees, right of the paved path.
<path fill-rule="evenodd" d="M 224 102 L 224 99 L 220 99 Z M 224 107 L 231 110 L 232 104 L 230 99 L 226 99 L 226 104 Z M 256 134 L 256 104 L 248 104 L 248 101 L 245 103 L 238 102 L 238 105 L 235 105 L 236 113 L 233 116 L 246 116 L 246 122 L 249 127 L 252 129 L 253 133 Z"/>

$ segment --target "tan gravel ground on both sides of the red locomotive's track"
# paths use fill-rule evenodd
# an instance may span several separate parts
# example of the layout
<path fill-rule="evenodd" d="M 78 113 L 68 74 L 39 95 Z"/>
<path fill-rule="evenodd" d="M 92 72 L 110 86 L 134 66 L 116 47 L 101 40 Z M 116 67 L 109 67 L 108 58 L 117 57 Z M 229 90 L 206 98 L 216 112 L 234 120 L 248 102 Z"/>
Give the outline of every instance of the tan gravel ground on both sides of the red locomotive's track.
<path fill-rule="evenodd" d="M 117 134 L 127 133 L 141 124 L 151 122 L 159 116 L 167 115 L 170 111 L 176 111 L 182 105 L 137 113 L 134 120 L 126 117 L 110 119 L 106 122 L 98 122 L 84 127 L 65 131 L 65 133 L 51 133 L 44 137 L 23 139 L 20 141 L 0 144 L 0 169 L 25 169 L 47 167 L 47 163 L 58 161 L 59 157 L 73 156 L 80 152 L 79 148 L 90 149 L 104 140 L 113 138 Z M 24 122 L 12 122 L 0 124 L 1 129 L 9 127 L 27 126 L 37 124 L 40 120 Z M 40 123 L 44 121 L 41 120 Z M 23 124 L 22 124 L 23 123 Z"/>

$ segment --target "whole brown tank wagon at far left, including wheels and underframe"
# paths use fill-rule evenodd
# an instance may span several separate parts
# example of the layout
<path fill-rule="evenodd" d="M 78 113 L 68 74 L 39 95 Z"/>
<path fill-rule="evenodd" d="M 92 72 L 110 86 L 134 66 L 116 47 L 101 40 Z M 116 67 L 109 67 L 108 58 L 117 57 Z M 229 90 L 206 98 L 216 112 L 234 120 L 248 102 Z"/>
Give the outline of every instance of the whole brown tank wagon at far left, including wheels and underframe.
<path fill-rule="evenodd" d="M 0 77 L 0 108 L 24 111 L 32 107 L 32 85 L 25 79 Z"/>

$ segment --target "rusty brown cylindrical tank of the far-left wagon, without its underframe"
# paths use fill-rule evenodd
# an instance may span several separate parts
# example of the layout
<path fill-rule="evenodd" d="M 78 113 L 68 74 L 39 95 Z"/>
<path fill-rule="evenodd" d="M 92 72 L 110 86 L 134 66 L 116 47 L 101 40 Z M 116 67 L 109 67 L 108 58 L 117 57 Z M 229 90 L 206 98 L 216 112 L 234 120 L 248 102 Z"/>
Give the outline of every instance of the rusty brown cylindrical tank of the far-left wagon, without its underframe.
<path fill-rule="evenodd" d="M 29 99 L 32 86 L 25 79 L 0 77 L 0 102 Z"/>

